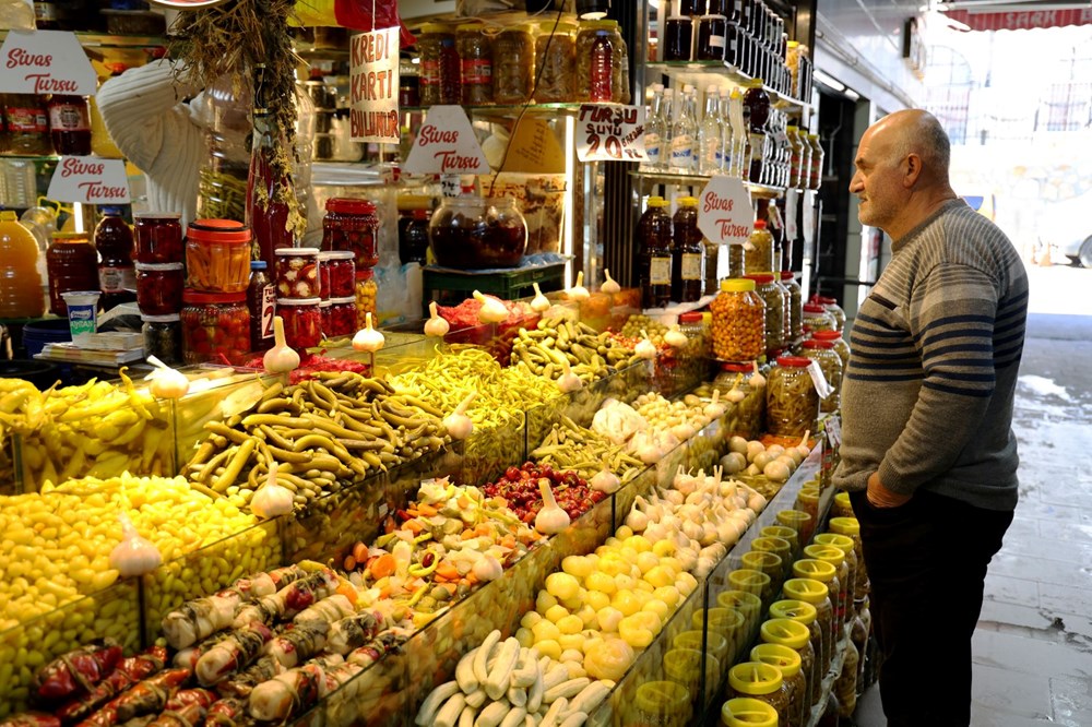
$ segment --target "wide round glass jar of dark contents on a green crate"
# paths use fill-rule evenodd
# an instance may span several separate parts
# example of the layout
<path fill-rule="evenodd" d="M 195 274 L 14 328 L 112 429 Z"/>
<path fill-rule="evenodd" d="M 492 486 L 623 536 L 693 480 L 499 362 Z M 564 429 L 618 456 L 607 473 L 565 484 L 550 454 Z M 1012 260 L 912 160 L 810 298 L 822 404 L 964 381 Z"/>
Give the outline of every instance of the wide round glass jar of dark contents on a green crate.
<path fill-rule="evenodd" d="M 448 196 L 432 213 L 428 241 L 438 265 L 515 267 L 527 248 L 527 225 L 512 198 Z"/>

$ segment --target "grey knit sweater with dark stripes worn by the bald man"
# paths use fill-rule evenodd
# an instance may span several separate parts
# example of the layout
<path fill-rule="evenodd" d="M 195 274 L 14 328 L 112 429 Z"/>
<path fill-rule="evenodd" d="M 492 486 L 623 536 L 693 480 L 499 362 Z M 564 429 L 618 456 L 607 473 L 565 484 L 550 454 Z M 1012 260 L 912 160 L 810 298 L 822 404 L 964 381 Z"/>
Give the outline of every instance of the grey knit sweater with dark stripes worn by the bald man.
<path fill-rule="evenodd" d="M 853 322 L 834 482 L 868 476 L 990 510 L 1017 503 L 1012 400 L 1028 276 L 1011 242 L 962 200 L 892 246 Z"/>

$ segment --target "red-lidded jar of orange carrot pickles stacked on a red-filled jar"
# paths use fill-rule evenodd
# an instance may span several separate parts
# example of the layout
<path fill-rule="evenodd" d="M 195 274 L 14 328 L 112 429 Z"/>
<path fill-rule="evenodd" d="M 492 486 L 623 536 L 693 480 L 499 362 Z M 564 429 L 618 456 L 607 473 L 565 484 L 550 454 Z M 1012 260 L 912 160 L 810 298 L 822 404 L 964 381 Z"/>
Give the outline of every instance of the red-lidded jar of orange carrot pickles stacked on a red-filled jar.
<path fill-rule="evenodd" d="M 242 293 L 250 283 L 250 229 L 234 219 L 195 219 L 186 228 L 186 287 Z"/>

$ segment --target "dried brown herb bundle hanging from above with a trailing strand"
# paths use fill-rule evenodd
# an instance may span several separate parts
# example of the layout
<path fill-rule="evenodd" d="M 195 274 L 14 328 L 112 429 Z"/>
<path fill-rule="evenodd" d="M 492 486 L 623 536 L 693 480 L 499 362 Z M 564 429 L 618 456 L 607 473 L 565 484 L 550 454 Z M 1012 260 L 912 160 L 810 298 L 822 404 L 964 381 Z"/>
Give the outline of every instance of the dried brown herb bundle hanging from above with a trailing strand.
<path fill-rule="evenodd" d="M 293 179 L 296 155 L 295 70 L 301 61 L 288 34 L 295 4 L 295 0 L 228 0 L 187 10 L 179 14 L 170 41 L 171 56 L 180 61 L 179 81 L 207 87 L 226 75 L 236 97 L 244 95 L 244 88 L 251 88 L 254 67 L 265 64 L 268 107 L 287 142 L 287 148 L 269 159 L 273 179 Z M 284 188 L 280 201 L 289 211 L 286 229 L 302 236 L 306 221 L 290 187 Z"/>

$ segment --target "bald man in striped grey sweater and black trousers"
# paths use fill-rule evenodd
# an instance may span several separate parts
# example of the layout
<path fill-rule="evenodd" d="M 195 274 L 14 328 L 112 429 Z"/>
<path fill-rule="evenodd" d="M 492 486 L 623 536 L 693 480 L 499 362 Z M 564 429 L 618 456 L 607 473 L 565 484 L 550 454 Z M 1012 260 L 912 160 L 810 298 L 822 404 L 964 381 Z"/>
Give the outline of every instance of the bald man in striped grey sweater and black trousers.
<path fill-rule="evenodd" d="M 971 635 L 1017 505 L 1028 277 L 952 191 L 950 151 L 936 118 L 898 111 L 860 138 L 850 182 L 893 257 L 854 319 L 834 482 L 860 522 L 892 727 L 970 724 Z"/>

